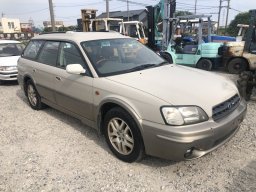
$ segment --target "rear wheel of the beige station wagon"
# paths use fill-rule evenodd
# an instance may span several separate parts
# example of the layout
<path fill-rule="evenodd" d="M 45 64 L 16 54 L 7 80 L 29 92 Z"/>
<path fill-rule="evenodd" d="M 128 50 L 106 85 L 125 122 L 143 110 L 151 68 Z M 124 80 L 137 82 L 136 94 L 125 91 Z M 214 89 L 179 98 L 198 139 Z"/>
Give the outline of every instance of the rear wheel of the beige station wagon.
<path fill-rule="evenodd" d="M 32 109 L 40 110 L 44 107 L 44 104 L 41 102 L 41 97 L 32 80 L 28 80 L 26 83 L 26 95 L 28 103 Z"/>

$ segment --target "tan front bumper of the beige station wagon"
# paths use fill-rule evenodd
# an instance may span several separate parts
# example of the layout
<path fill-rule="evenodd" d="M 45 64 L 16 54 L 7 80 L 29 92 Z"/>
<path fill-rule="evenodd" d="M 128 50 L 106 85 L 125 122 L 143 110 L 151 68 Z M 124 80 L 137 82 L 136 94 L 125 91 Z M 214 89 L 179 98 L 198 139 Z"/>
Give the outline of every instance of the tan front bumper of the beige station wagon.
<path fill-rule="evenodd" d="M 177 161 L 199 158 L 235 135 L 246 110 L 246 102 L 242 100 L 231 114 L 218 121 L 180 127 L 143 121 L 146 154 Z"/>

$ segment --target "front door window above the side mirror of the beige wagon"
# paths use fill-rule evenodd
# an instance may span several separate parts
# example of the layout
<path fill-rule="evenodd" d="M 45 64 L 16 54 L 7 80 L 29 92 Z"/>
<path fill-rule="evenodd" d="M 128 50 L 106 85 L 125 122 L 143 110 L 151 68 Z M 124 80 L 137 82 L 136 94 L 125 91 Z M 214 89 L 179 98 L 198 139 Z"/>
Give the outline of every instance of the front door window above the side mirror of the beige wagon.
<path fill-rule="evenodd" d="M 85 67 L 78 48 L 72 43 L 62 42 L 60 44 L 60 56 L 57 66 L 65 69 L 68 64 L 81 64 Z"/>

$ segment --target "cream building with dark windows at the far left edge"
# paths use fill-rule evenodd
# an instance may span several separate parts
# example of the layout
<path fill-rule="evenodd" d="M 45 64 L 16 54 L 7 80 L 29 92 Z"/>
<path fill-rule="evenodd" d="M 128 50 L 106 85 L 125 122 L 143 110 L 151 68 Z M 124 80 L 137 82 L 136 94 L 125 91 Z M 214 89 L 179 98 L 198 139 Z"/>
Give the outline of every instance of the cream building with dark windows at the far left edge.
<path fill-rule="evenodd" d="M 2 17 L 0 19 L 0 33 L 20 33 L 20 20 Z"/>

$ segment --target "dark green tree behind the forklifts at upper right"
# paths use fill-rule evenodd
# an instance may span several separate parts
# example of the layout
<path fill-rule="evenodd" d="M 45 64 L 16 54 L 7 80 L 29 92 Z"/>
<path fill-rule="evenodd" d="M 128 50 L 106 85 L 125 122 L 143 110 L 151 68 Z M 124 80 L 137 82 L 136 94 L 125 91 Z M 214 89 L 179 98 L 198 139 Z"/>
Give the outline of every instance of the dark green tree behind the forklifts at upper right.
<path fill-rule="evenodd" d="M 239 28 L 237 24 L 249 24 L 249 12 L 239 13 L 229 24 L 227 32 L 230 36 L 237 36 Z"/>

